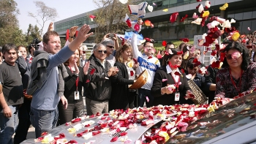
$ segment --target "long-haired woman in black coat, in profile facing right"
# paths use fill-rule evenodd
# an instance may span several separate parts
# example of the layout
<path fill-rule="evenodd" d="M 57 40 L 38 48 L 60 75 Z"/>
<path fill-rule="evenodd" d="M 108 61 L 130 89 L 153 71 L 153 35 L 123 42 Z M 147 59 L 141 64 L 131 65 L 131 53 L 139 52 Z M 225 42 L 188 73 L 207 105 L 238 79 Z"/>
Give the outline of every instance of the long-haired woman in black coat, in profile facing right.
<path fill-rule="evenodd" d="M 136 90 L 129 89 L 129 85 L 135 83 L 135 69 L 139 64 L 133 64 L 130 59 L 132 48 L 127 43 L 121 45 L 116 52 L 115 67 L 118 68 L 118 76 L 115 83 L 112 83 L 112 94 L 110 97 L 110 110 L 134 108 Z"/>

